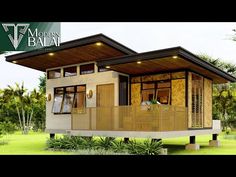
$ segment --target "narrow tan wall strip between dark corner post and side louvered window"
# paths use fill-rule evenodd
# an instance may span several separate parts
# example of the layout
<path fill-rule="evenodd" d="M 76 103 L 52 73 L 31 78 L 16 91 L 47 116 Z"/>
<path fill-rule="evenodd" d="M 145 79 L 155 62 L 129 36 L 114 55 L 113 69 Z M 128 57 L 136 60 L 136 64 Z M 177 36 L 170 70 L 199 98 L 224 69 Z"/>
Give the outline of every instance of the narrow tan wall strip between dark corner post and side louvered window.
<path fill-rule="evenodd" d="M 188 128 L 192 127 L 192 73 L 188 73 Z"/>

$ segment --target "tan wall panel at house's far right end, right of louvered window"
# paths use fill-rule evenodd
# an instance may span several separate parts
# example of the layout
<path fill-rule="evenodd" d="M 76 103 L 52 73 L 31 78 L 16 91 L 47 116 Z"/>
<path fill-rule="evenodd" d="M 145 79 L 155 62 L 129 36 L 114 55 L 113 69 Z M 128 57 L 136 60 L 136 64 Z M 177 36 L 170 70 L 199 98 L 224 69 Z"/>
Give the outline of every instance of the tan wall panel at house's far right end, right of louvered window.
<path fill-rule="evenodd" d="M 212 81 L 204 78 L 204 127 L 212 127 Z"/>

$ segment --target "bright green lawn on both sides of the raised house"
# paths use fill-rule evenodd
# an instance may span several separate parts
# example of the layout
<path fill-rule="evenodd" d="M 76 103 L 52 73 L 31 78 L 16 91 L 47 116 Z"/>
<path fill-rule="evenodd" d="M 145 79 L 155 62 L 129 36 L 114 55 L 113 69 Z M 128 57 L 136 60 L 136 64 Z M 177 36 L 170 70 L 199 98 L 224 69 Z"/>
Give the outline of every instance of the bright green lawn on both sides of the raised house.
<path fill-rule="evenodd" d="M 199 151 L 185 150 L 185 144 L 188 143 L 188 137 L 163 139 L 164 147 L 168 148 L 168 154 L 182 155 L 182 154 L 236 154 L 236 133 L 228 136 L 229 139 L 224 138 L 222 133 L 219 136 L 221 147 L 209 147 L 208 141 L 211 135 L 197 136 L 196 141 L 200 144 Z M 234 136 L 234 137 L 233 137 Z M 96 154 L 96 152 L 63 152 L 63 151 L 49 151 L 46 150 L 46 140 L 49 138 L 47 133 L 30 132 L 28 135 L 22 135 L 17 132 L 13 135 L 8 135 L 0 139 L 0 154 Z M 4 142 L 7 142 L 6 144 Z"/>

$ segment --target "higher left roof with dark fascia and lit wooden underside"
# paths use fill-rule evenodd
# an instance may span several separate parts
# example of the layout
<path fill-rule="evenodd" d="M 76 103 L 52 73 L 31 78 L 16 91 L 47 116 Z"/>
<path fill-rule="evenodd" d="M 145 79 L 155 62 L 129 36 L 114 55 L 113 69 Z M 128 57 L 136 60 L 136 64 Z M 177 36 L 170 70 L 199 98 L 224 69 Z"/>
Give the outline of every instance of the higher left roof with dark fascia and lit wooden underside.
<path fill-rule="evenodd" d="M 97 34 L 61 43 L 59 47 L 46 47 L 6 56 L 6 61 L 45 72 L 49 68 L 129 54 L 136 52 L 103 34 Z"/>

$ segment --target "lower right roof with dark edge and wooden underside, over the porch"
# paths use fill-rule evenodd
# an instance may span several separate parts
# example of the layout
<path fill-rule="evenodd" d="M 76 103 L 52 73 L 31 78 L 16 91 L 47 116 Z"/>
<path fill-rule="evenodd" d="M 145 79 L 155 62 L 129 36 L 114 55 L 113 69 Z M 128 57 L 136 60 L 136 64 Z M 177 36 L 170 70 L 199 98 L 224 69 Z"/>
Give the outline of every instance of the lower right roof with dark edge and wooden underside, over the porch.
<path fill-rule="evenodd" d="M 200 59 L 182 47 L 132 54 L 99 61 L 98 66 L 129 75 L 190 70 L 213 80 L 213 83 L 236 82 L 236 78 Z"/>

